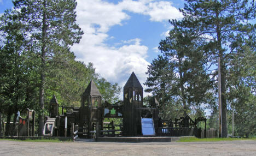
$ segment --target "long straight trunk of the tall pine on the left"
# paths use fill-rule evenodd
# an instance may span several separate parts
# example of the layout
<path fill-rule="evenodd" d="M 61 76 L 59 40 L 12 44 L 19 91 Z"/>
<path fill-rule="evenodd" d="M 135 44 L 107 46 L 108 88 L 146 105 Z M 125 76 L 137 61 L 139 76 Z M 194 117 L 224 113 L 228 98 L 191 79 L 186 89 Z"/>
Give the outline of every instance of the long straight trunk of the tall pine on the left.
<path fill-rule="evenodd" d="M 46 37 L 46 3 L 43 2 L 44 5 L 44 13 L 43 13 L 43 27 L 42 27 L 42 47 L 41 47 L 41 69 L 40 69 L 40 88 L 39 88 L 39 104 L 41 112 L 39 113 L 39 128 L 38 128 L 38 135 L 43 135 L 43 128 L 44 128 L 44 85 L 45 85 L 45 37 Z"/>

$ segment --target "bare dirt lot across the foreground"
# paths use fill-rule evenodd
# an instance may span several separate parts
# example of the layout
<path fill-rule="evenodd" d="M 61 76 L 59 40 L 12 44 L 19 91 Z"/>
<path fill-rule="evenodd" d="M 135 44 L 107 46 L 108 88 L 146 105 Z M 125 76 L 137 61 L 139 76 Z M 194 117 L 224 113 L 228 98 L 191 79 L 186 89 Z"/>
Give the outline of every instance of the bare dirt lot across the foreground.
<path fill-rule="evenodd" d="M 0 140 L 0 155 L 256 155 L 256 141 L 117 143 Z"/>

